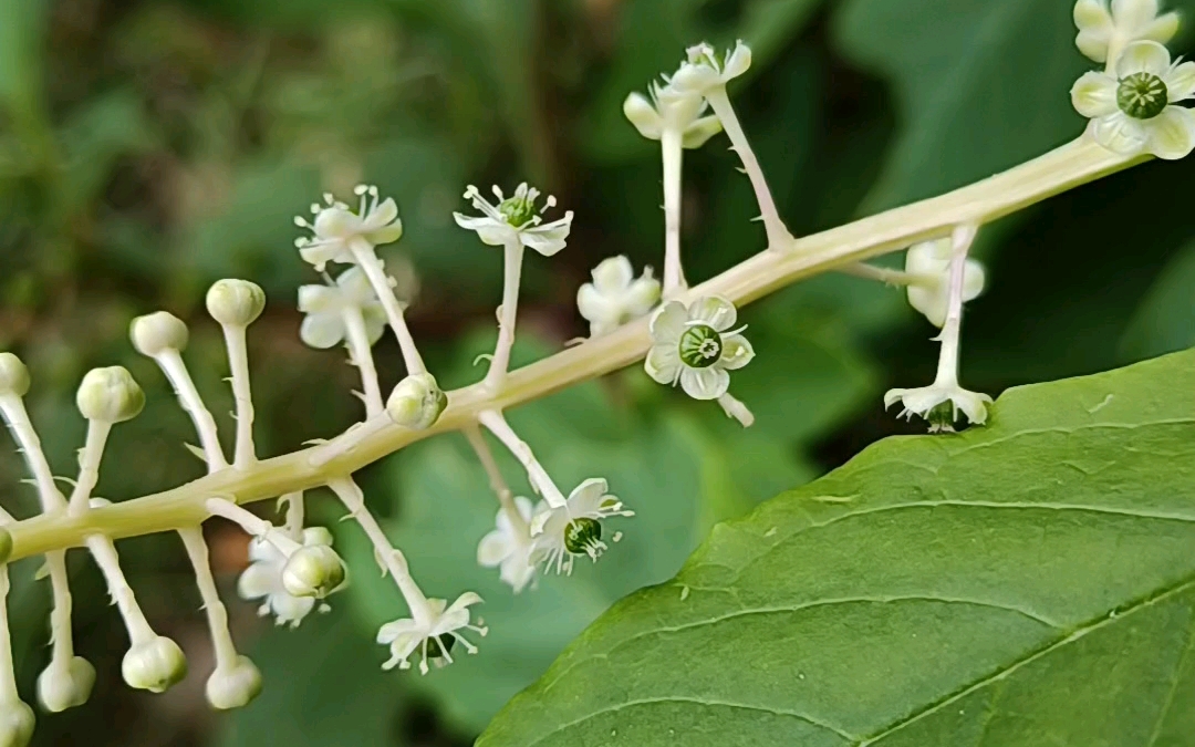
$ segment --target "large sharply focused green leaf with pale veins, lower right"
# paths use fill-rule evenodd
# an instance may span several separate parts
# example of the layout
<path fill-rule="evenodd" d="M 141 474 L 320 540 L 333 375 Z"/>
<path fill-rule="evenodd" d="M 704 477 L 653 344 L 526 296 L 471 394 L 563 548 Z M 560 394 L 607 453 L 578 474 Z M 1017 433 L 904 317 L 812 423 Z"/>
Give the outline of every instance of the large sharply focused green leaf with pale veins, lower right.
<path fill-rule="evenodd" d="M 1195 353 L 1009 390 L 719 525 L 478 747 L 1195 745 Z"/>

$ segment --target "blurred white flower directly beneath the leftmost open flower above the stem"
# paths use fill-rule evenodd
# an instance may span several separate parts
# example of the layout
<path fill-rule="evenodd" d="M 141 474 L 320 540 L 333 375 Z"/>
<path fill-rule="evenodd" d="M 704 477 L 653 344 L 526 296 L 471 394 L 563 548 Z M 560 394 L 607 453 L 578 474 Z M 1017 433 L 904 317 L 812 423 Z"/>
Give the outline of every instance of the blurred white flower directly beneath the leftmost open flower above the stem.
<path fill-rule="evenodd" d="M 335 286 L 301 286 L 299 311 L 307 316 L 299 327 L 299 337 L 321 350 L 339 344 L 348 335 L 344 312 L 351 308 L 361 312 L 369 344 L 378 342 L 386 331 L 386 310 L 361 268 L 341 273 Z"/>

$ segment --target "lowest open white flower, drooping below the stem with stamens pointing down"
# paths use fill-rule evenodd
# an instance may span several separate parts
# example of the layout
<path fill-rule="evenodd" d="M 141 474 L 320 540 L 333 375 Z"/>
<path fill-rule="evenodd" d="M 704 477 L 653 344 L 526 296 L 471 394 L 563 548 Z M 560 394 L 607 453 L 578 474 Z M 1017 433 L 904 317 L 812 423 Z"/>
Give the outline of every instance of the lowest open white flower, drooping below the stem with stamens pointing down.
<path fill-rule="evenodd" d="M 489 629 L 480 625 L 470 625 L 468 607 L 482 601 L 482 598 L 473 592 L 466 592 L 456 598 L 447 610 L 448 604 L 443 599 L 429 599 L 423 614 L 417 616 L 418 622 L 412 618 L 403 618 L 393 623 L 386 623 L 378 630 L 378 643 L 390 647 L 390 659 L 381 666 L 382 669 L 393 669 L 397 665 L 399 669 L 410 669 L 407 661 L 416 650 L 419 653 L 419 673 L 428 673 L 428 660 L 437 667 L 452 663 L 452 647 L 460 643 L 470 654 L 477 653 L 477 647 L 468 642 L 459 630 L 472 630 L 484 636 Z"/>

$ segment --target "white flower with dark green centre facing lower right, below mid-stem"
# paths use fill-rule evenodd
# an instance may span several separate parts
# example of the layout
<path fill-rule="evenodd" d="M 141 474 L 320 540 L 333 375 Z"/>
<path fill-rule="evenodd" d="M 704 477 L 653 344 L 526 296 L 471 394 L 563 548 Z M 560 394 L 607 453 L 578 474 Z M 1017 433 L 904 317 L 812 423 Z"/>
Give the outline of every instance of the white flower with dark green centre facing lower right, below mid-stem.
<path fill-rule="evenodd" d="M 556 567 L 556 573 L 572 573 L 572 561 L 581 555 L 596 562 L 606 551 L 601 541 L 601 520 L 609 516 L 633 516 L 623 502 L 609 495 L 609 485 L 600 478 L 589 478 L 577 485 L 559 508 L 540 502 L 532 519 L 534 538 L 532 562 L 544 563 L 544 573 Z M 618 541 L 621 533 L 612 538 Z"/>

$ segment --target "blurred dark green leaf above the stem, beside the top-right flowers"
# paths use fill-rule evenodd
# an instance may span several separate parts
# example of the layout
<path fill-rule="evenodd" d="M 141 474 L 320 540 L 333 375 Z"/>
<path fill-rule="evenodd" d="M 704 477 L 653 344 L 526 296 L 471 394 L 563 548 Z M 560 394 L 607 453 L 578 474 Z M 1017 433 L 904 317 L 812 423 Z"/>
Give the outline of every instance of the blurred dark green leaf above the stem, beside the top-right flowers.
<path fill-rule="evenodd" d="M 1073 2 L 850 0 L 842 51 L 889 78 L 903 133 L 868 201 L 876 210 L 1003 171 L 1083 131 L 1067 92 L 1092 63 Z"/>

